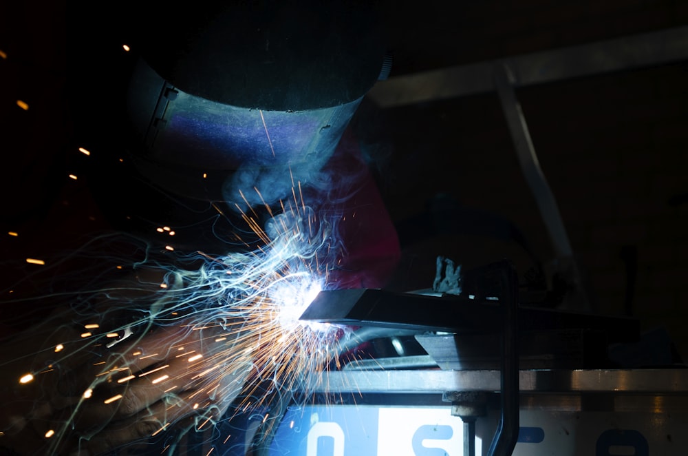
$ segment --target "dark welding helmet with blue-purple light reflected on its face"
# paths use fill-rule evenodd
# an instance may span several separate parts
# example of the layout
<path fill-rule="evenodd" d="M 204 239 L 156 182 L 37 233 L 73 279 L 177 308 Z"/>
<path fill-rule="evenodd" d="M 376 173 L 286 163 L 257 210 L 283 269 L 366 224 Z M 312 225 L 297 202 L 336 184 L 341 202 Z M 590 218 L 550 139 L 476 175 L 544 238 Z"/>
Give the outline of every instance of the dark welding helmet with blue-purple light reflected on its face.
<path fill-rule="evenodd" d="M 118 102 L 128 125 L 118 136 L 135 181 L 171 198 L 167 217 L 194 207 L 202 218 L 197 203 L 208 201 L 226 217 L 297 183 L 323 185 L 323 165 L 389 70 L 369 1 L 138 8 L 127 19 L 131 72 Z M 151 219 L 161 203 L 141 203 L 144 193 L 127 212 L 140 205 Z"/>

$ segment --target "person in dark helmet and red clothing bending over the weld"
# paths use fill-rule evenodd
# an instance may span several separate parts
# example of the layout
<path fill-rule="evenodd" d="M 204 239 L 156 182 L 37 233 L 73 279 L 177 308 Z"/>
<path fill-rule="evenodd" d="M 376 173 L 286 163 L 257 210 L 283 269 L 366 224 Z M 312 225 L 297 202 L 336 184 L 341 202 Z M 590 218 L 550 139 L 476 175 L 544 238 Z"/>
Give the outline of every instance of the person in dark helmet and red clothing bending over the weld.
<path fill-rule="evenodd" d="M 388 70 L 374 3 L 145 4 L 112 11 L 121 30 L 103 40 L 85 32 L 98 36 L 84 22 L 98 17 L 94 6 L 69 8 L 81 35 L 73 43 L 74 137 L 94 150 L 89 180 L 114 229 L 149 236 L 173 226 L 182 251 L 251 249 L 258 240 L 241 214 L 264 222 L 297 187 L 316 212 L 338 219 L 345 248 L 330 280 L 338 288 L 385 284 L 398 240 L 347 129 Z M 164 340 L 143 343 L 153 351 Z M 46 409 L 26 403 L 27 422 Z M 61 405 L 69 402 L 47 409 L 58 414 Z M 148 431 L 123 419 L 78 448 L 104 453 Z M 12 448 L 11 439 L 3 445 Z"/>

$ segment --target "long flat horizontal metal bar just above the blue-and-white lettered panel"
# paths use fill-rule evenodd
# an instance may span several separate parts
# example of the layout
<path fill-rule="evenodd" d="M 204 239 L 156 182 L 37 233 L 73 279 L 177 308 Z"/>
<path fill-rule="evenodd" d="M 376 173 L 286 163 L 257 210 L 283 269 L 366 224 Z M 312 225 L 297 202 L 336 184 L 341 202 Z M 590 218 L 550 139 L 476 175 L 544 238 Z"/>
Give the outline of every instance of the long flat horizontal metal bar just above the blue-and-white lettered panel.
<path fill-rule="evenodd" d="M 519 371 L 521 393 L 619 393 L 687 395 L 688 369 L 572 369 Z M 499 392 L 500 372 L 332 371 L 313 375 L 315 393 Z"/>

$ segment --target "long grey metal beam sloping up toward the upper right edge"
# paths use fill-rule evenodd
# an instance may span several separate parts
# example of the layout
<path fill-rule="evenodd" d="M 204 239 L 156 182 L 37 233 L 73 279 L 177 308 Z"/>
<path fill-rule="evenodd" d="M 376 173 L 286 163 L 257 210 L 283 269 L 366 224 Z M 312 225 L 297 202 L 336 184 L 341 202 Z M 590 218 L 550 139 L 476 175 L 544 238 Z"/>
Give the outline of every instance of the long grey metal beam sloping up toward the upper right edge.
<path fill-rule="evenodd" d="M 504 63 L 520 87 L 685 60 L 688 26 L 391 77 L 367 96 L 387 108 L 491 92 L 495 66 Z"/>

